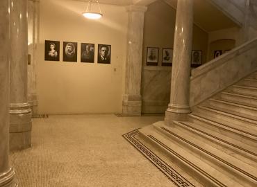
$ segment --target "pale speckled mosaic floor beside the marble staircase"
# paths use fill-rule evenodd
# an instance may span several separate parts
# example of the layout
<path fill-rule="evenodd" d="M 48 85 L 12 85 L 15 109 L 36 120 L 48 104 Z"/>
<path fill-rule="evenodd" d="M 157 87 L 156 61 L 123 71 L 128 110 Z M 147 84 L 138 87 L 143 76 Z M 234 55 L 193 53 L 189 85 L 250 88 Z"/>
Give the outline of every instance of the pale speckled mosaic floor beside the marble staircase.
<path fill-rule="evenodd" d="M 176 186 L 122 134 L 163 116 L 34 118 L 32 147 L 10 153 L 20 187 Z"/>

